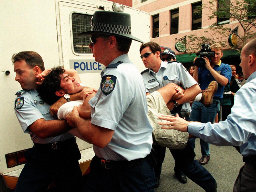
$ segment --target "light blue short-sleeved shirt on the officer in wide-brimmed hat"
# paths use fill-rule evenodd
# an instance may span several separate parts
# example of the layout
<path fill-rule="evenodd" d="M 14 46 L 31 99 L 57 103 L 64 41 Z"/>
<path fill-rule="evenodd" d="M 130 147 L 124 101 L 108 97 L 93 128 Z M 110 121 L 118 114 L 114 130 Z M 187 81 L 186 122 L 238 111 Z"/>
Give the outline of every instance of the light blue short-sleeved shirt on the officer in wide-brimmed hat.
<path fill-rule="evenodd" d="M 122 63 L 115 65 L 119 61 Z M 108 76 L 114 88 L 105 95 L 102 90 Z M 114 130 L 114 135 L 104 148 L 93 146 L 95 155 L 114 161 L 146 157 L 152 147 L 153 128 L 147 118 L 145 86 L 140 72 L 124 54 L 115 58 L 101 72 L 101 77 L 100 88 L 89 101 L 91 123 Z"/>

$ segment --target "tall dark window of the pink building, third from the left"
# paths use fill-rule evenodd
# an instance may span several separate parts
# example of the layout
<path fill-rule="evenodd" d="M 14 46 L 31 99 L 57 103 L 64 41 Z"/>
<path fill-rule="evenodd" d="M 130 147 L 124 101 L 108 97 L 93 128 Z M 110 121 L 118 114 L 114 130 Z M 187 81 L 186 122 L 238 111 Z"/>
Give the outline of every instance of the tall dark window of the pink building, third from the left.
<path fill-rule="evenodd" d="M 202 28 L 202 2 L 192 4 L 192 30 Z"/>

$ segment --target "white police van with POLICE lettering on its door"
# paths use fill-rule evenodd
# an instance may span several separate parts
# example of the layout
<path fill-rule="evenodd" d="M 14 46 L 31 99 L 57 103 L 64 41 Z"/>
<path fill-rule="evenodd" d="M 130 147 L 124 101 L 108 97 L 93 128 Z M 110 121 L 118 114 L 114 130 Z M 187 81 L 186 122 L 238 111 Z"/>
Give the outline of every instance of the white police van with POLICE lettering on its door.
<path fill-rule="evenodd" d="M 104 66 L 94 60 L 88 47 L 89 37 L 76 35 L 90 30 L 95 11 L 119 11 L 131 15 L 132 35 L 148 42 L 150 17 L 141 10 L 106 0 L 2 1 L 0 10 L 0 173 L 6 186 L 14 189 L 26 162 L 24 152 L 33 146 L 33 142 L 29 134 L 23 132 L 14 112 L 15 93 L 21 87 L 14 80 L 12 55 L 20 51 L 36 51 L 42 56 L 46 69 L 56 66 L 76 69 L 84 85 L 98 89 Z M 138 70 L 143 71 L 140 45 L 140 42 L 132 41 L 128 55 Z M 77 144 L 82 154 L 80 167 L 86 174 L 94 156 L 92 145 L 78 138 Z"/>

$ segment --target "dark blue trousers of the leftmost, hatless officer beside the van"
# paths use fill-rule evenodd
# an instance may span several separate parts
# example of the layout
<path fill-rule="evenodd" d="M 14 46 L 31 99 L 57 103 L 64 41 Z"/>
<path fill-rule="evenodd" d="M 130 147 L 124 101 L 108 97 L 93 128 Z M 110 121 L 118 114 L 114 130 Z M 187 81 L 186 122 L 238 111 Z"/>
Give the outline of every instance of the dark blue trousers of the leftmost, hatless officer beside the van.
<path fill-rule="evenodd" d="M 26 151 L 25 157 L 27 162 L 20 173 L 15 192 L 46 191 L 53 181 L 54 187 L 50 191 L 83 190 L 78 163 L 81 154 L 75 142 L 58 149 L 34 146 Z"/>

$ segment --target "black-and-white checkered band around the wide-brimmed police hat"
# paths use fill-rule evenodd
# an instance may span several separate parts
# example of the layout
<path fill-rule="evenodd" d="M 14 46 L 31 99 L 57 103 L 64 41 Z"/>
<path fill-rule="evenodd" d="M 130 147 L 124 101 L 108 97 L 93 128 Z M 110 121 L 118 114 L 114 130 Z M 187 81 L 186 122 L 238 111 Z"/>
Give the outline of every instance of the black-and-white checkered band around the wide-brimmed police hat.
<path fill-rule="evenodd" d="M 132 34 L 130 26 L 111 25 L 111 24 L 104 24 L 104 23 L 93 23 L 92 31 L 104 31 L 108 33 L 127 34 L 127 35 Z"/>

